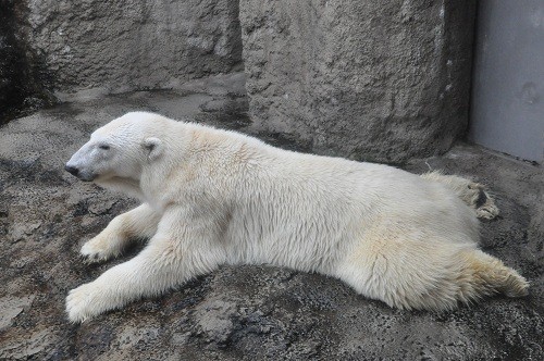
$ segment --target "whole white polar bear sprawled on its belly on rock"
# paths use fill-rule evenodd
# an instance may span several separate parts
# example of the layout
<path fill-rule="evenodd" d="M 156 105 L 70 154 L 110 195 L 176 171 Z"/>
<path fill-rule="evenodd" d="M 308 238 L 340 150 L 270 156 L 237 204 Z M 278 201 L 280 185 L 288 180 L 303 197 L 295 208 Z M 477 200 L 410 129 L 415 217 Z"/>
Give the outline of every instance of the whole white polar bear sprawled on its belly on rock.
<path fill-rule="evenodd" d="M 465 178 L 282 150 L 145 112 L 97 129 L 65 169 L 143 202 L 87 241 L 84 257 L 104 261 L 150 238 L 132 260 L 70 291 L 73 322 L 221 264 L 319 272 L 400 309 L 528 294 L 522 276 L 478 249 L 482 188 Z M 492 217 L 484 196 L 483 216 Z"/>

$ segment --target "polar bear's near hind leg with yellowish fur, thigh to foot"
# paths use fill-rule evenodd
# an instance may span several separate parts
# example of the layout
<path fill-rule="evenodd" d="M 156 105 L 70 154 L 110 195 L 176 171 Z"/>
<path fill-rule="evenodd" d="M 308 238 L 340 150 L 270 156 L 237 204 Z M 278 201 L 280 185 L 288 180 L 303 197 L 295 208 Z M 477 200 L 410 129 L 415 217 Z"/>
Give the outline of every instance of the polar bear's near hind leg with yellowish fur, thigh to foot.
<path fill-rule="evenodd" d="M 366 240 L 336 275 L 363 296 L 408 310 L 452 310 L 495 294 L 522 297 L 529 287 L 515 270 L 473 245 L 445 240 Z"/>

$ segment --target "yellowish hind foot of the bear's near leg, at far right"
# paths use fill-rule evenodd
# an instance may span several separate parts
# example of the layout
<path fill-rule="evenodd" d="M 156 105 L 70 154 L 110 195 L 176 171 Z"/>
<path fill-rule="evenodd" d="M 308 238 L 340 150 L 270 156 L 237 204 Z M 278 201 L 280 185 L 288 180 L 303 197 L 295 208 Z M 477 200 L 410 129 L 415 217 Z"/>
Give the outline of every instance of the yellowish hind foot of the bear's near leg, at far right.
<path fill-rule="evenodd" d="M 480 250 L 461 253 L 463 270 L 459 274 L 458 299 L 471 303 L 484 296 L 504 294 L 523 297 L 529 294 L 529 283 L 514 269 Z"/>

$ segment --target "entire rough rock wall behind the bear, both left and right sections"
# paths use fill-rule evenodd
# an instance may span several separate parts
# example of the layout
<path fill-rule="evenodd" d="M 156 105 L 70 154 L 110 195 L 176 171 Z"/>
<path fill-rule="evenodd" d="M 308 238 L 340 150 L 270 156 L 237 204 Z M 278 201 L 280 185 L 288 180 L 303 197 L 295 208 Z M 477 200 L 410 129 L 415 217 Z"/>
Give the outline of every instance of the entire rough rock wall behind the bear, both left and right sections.
<path fill-rule="evenodd" d="M 11 109 L 245 66 L 250 132 L 308 151 L 404 162 L 467 126 L 473 1 L 0 1 Z"/>

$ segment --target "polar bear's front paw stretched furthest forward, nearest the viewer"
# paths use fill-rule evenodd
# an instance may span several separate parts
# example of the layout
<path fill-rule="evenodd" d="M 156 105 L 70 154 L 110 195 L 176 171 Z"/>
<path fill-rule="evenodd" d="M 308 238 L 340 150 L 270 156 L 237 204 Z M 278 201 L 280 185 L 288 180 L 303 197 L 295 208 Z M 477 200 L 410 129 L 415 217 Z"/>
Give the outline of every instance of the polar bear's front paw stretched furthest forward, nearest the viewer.
<path fill-rule="evenodd" d="M 95 296 L 100 289 L 92 283 L 82 285 L 70 291 L 66 297 L 66 312 L 71 322 L 84 322 L 101 313 L 100 302 Z"/>

